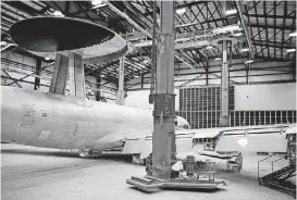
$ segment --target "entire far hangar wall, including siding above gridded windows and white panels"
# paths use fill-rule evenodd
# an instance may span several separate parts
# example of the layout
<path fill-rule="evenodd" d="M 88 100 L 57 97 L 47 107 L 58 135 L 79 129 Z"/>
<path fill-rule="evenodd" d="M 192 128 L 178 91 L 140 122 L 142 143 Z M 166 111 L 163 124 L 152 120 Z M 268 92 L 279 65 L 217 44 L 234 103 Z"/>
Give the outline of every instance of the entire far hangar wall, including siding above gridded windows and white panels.
<path fill-rule="evenodd" d="M 235 95 L 235 107 L 230 110 L 230 126 L 296 122 L 295 64 L 262 60 L 248 67 L 244 64 L 245 61 L 246 59 L 233 59 L 230 65 L 231 85 L 234 86 Z M 203 104 L 203 102 L 214 102 L 209 98 L 213 98 L 211 92 L 218 90 L 218 87 L 220 88 L 221 63 L 221 61 L 200 62 L 197 63 L 195 70 L 186 64 L 175 64 L 174 66 L 174 86 L 177 89 L 177 91 L 175 89 L 177 95 L 175 111 L 177 111 L 176 114 L 188 120 L 193 128 L 219 126 L 220 108 L 212 108 L 211 103 Z M 203 66 L 208 66 L 208 75 Z M 194 89 L 182 92 L 185 97 L 181 97 L 180 87 Z M 201 87 L 210 88 L 210 91 L 206 91 L 207 95 L 203 96 L 203 92 L 196 89 Z M 149 90 L 138 91 L 150 88 L 150 74 L 126 82 L 125 88 L 127 90 L 125 104 L 151 109 L 147 100 Z M 200 92 L 200 95 L 193 95 L 196 92 Z M 141 97 L 138 97 L 137 93 Z M 199 102 L 199 96 L 206 99 Z M 247 98 L 247 96 L 249 97 Z M 181 98 L 185 98 L 185 100 L 182 102 Z M 220 96 L 215 95 L 215 98 L 220 98 Z M 218 101 L 220 102 L 220 99 L 215 100 L 215 102 Z M 197 102 L 200 103 L 198 107 Z M 201 108 L 199 109 L 199 107 Z"/>

